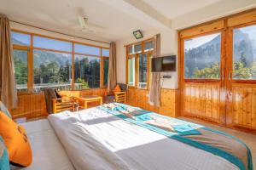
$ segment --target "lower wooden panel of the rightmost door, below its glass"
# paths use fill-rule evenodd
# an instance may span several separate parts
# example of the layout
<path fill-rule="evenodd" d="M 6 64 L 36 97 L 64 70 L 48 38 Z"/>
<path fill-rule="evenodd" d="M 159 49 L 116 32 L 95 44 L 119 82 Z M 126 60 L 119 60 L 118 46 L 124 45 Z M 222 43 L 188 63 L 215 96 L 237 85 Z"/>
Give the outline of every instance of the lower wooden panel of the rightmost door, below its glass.
<path fill-rule="evenodd" d="M 256 87 L 235 84 L 232 87 L 233 125 L 256 129 Z"/>

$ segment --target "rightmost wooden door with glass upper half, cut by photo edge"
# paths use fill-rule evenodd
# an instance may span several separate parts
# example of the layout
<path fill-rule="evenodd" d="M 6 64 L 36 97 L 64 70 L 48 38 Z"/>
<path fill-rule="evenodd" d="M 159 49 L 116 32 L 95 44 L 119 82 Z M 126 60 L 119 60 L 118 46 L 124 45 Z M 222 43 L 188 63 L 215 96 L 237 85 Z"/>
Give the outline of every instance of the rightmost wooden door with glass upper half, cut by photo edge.
<path fill-rule="evenodd" d="M 228 32 L 227 124 L 256 129 L 256 23 Z"/>

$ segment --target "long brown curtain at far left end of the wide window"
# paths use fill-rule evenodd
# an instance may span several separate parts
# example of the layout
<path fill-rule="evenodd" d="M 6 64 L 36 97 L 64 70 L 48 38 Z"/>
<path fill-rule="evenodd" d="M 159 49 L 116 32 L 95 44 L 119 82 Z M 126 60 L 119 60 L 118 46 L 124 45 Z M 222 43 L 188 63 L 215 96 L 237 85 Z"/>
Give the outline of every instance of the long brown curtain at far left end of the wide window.
<path fill-rule="evenodd" d="M 10 37 L 9 19 L 0 14 L 0 96 L 9 109 L 17 106 L 15 64 Z"/>

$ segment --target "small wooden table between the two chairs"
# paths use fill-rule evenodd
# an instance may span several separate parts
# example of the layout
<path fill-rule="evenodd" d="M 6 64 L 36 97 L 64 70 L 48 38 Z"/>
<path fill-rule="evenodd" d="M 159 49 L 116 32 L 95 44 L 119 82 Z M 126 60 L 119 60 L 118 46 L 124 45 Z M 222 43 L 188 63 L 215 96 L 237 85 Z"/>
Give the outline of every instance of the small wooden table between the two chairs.
<path fill-rule="evenodd" d="M 77 98 L 79 101 L 79 107 L 82 109 L 87 109 L 88 108 L 88 103 L 92 102 L 99 102 L 100 105 L 102 105 L 102 96 L 97 96 L 97 95 L 85 95 Z"/>

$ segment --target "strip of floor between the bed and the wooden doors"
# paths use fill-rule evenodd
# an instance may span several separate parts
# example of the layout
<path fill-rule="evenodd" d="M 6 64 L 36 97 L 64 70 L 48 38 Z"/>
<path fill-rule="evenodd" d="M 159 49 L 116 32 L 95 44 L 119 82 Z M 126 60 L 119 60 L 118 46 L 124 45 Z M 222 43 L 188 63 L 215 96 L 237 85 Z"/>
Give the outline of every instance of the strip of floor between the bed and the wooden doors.
<path fill-rule="evenodd" d="M 212 124 L 212 123 L 201 122 L 201 121 L 198 121 L 198 120 L 189 119 L 187 117 L 178 117 L 178 118 L 182 119 L 184 121 L 188 121 L 188 122 L 195 122 L 195 123 L 201 124 L 201 125 L 206 126 L 206 127 L 212 127 L 213 129 L 217 129 L 217 130 L 222 131 L 224 133 L 229 133 L 233 136 L 236 136 L 236 138 L 241 139 L 241 141 L 243 141 L 245 144 L 247 144 L 247 146 L 252 151 L 253 167 L 256 166 L 256 135 L 251 134 L 251 133 L 244 133 L 244 132 L 237 131 L 237 130 L 230 129 L 230 128 L 226 128 L 226 127 L 220 127 L 220 126 Z"/>

